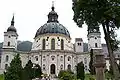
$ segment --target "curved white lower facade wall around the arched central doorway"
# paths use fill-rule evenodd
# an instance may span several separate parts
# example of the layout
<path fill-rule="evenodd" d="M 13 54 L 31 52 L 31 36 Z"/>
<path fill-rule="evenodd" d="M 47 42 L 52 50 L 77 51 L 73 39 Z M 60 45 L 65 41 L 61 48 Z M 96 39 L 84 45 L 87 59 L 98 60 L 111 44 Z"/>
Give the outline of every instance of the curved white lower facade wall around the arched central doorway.
<path fill-rule="evenodd" d="M 40 56 L 39 61 L 35 61 L 35 56 Z M 54 60 L 52 60 L 52 57 L 55 57 Z M 62 58 L 61 58 L 62 56 Z M 44 58 L 45 57 L 45 58 Z M 70 61 L 68 61 L 68 57 L 71 57 Z M 76 59 L 76 55 L 73 53 L 63 53 L 63 52 L 39 52 L 39 53 L 32 53 L 31 54 L 31 61 L 33 63 L 39 64 L 41 66 L 41 69 L 43 73 L 50 74 L 50 66 L 52 64 L 55 64 L 55 71 L 56 75 L 58 75 L 59 71 L 61 70 L 61 65 L 63 65 L 62 70 L 67 70 L 68 65 L 71 65 L 71 70 L 75 72 L 75 65 L 74 62 Z M 43 65 L 45 64 L 45 70 L 43 70 Z"/>

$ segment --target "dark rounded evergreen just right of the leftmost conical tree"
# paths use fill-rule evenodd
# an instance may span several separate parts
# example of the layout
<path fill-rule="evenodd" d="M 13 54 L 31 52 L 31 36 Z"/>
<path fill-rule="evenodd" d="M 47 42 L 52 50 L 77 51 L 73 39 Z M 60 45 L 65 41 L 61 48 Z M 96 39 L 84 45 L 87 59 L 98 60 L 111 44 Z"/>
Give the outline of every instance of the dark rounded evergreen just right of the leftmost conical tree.
<path fill-rule="evenodd" d="M 32 80 L 34 76 L 33 63 L 29 60 L 23 69 L 23 80 Z"/>

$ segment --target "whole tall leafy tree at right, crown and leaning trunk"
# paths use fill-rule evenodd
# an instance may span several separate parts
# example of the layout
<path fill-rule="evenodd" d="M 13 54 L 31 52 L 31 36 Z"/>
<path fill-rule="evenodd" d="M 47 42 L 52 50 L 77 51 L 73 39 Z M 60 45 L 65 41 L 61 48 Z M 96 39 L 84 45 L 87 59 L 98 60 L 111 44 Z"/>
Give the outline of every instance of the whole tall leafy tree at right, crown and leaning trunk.
<path fill-rule="evenodd" d="M 79 27 L 84 23 L 89 31 L 98 31 L 101 25 L 105 35 L 110 63 L 113 67 L 115 80 L 119 80 L 120 74 L 113 55 L 115 29 L 120 27 L 120 0 L 73 0 L 74 21 Z M 111 36 L 112 35 L 112 36 Z"/>

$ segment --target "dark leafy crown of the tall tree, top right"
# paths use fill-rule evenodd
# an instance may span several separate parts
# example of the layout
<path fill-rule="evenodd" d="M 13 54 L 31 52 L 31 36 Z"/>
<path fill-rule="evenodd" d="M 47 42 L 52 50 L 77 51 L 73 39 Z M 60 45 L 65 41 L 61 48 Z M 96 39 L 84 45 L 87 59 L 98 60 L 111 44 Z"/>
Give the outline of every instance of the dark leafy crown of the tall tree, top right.
<path fill-rule="evenodd" d="M 75 14 L 73 19 L 79 27 L 82 27 L 84 22 L 94 27 L 104 20 L 113 21 L 116 27 L 120 25 L 119 0 L 73 0 L 73 11 Z"/>

